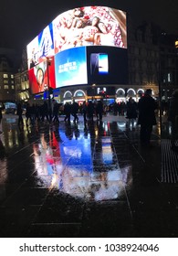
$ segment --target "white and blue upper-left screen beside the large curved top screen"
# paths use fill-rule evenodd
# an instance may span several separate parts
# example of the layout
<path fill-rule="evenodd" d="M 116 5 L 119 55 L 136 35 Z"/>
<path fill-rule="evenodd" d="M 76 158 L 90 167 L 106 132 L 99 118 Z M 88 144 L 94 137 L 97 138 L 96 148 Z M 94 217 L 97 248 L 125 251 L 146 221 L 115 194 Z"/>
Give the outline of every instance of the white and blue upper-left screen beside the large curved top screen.
<path fill-rule="evenodd" d="M 54 56 L 53 25 L 50 23 L 27 47 L 28 69 L 34 68 L 38 63 Z"/>

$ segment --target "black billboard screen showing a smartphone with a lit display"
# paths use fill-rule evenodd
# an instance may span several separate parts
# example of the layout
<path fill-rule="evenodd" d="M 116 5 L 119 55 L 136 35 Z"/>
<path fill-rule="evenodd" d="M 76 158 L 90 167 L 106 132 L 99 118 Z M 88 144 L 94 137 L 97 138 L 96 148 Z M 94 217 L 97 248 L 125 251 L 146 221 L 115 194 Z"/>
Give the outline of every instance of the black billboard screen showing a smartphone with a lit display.
<path fill-rule="evenodd" d="M 127 49 L 87 48 L 89 84 L 126 84 L 128 82 Z"/>

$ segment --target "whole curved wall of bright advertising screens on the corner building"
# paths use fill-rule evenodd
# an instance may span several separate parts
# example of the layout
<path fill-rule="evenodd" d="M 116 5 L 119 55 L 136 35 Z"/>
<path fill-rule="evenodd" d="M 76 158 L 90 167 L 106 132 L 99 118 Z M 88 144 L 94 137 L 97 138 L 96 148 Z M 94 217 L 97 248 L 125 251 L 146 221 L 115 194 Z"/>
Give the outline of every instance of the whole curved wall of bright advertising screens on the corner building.
<path fill-rule="evenodd" d="M 106 47 L 106 48 L 102 48 Z M 91 49 L 92 48 L 92 49 Z M 115 59 L 122 62 L 121 69 Z M 84 6 L 58 15 L 26 47 L 30 87 L 33 93 L 47 90 L 37 87 L 37 69 L 47 69 L 48 59 L 54 57 L 52 88 L 76 84 L 124 83 L 127 69 L 126 13 L 106 6 Z M 114 61 L 115 61 L 114 59 Z M 50 61 L 51 62 L 51 61 Z M 33 69 L 33 71 L 32 71 Z M 51 75 L 51 74 L 50 74 Z M 31 77 L 33 76 L 33 78 Z"/>

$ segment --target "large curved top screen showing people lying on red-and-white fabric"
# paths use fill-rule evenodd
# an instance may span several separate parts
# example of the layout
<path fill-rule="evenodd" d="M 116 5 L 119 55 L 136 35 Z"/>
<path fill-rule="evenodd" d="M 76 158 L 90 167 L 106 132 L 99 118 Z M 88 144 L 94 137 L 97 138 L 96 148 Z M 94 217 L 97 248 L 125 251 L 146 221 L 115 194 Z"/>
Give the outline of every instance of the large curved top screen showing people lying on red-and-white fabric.
<path fill-rule="evenodd" d="M 127 48 L 126 13 L 106 6 L 69 10 L 53 20 L 55 54 L 80 46 Z"/>

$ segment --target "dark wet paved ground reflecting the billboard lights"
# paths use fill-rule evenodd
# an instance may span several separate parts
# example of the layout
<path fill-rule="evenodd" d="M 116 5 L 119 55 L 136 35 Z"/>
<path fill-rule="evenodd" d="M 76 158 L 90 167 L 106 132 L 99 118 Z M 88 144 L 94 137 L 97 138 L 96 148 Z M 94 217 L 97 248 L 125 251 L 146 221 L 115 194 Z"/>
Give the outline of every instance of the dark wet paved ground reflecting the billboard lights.
<path fill-rule="evenodd" d="M 19 128 L 0 134 L 0 237 L 177 237 L 178 185 L 162 182 L 160 126 L 141 146 L 139 127 L 102 122 Z"/>

